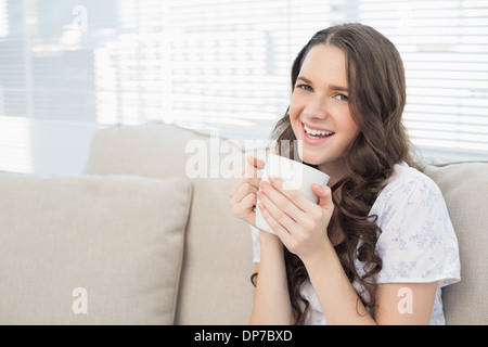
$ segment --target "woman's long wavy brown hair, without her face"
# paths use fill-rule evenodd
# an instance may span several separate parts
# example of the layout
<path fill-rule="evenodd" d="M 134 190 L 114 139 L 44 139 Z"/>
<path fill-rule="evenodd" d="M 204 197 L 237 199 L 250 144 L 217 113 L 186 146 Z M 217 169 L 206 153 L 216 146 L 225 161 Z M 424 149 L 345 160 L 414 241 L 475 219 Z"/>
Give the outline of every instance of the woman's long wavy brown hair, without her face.
<path fill-rule="evenodd" d="M 369 213 L 395 164 L 406 162 L 416 167 L 401 120 L 407 98 L 403 64 L 395 46 L 374 28 L 356 23 L 337 25 L 318 31 L 300 50 L 292 67 L 292 91 L 305 56 L 316 44 L 337 47 L 346 55 L 348 104 L 359 134 L 345 154 L 344 176 L 331 187 L 335 213 L 329 231 L 333 226 L 342 230 L 345 237 L 335 245 L 335 250 L 349 281 L 359 283 L 365 291 L 358 292 L 358 297 L 374 317 L 376 274 L 382 269 L 382 259 L 375 249 L 381 229 L 375 223 L 377 216 Z M 298 159 L 293 145 L 296 137 L 290 121 L 290 106 L 277 123 L 271 138 L 277 140 L 281 155 L 284 154 L 280 143 L 286 141 L 291 146 L 287 156 Z M 363 261 L 364 273 L 357 272 L 356 259 Z M 287 249 L 285 264 L 295 323 L 303 324 L 309 303 L 299 288 L 308 273 L 301 260 Z"/>

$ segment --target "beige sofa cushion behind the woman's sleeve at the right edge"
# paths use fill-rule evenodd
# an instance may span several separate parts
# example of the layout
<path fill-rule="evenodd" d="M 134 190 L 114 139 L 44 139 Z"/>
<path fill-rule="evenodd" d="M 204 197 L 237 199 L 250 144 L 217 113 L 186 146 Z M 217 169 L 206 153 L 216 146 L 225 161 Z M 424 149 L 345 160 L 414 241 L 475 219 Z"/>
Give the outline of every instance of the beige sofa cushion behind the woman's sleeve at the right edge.
<path fill-rule="evenodd" d="M 440 188 L 458 236 L 461 282 L 442 288 L 447 324 L 488 324 L 488 163 L 426 166 Z"/>

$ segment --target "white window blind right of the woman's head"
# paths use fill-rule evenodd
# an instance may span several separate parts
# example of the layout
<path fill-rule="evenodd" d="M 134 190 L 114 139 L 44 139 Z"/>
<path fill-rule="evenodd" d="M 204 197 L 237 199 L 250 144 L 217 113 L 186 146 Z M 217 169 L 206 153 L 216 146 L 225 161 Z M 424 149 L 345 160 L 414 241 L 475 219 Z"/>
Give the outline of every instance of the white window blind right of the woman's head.
<path fill-rule="evenodd" d="M 488 1 L 359 1 L 358 21 L 402 55 L 413 142 L 488 154 Z"/>

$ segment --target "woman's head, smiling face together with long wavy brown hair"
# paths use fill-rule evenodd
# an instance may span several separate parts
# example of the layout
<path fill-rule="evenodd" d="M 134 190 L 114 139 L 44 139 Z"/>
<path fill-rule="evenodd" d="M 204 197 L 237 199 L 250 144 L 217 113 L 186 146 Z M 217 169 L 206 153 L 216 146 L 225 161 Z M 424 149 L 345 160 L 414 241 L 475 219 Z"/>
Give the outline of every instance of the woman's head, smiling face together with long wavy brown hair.
<path fill-rule="evenodd" d="M 378 31 L 362 25 L 344 25 L 317 33 L 301 49 L 293 64 L 292 87 L 300 83 L 304 76 L 310 76 L 305 78 L 310 82 L 308 91 L 304 93 L 295 87 L 288 111 L 273 134 L 278 141 L 303 140 L 297 141 L 301 159 L 330 175 L 337 207 L 337 219 L 335 226 L 334 220 L 331 223 L 330 233 L 333 237 L 339 234 L 350 239 L 349 245 L 344 244 L 339 250 L 339 256 L 344 252 L 347 273 L 356 272 L 351 259 L 357 250 L 369 259 L 369 271 L 362 278 L 349 277 L 356 277 L 363 291 L 369 292 L 370 303 L 364 298 L 362 301 L 374 308 L 374 277 L 382 267 L 375 243 L 381 229 L 363 219 L 394 165 L 413 165 L 401 123 L 406 103 L 403 64 L 393 43 Z M 343 93 L 346 98 L 337 98 Z M 303 124 L 329 128 L 334 134 L 310 139 Z M 296 255 L 288 254 L 288 258 Z M 293 262 L 300 261 L 288 261 L 288 267 Z M 298 298 L 301 295 L 296 283 L 304 280 L 303 275 L 288 279 L 291 286 L 297 288 Z"/>

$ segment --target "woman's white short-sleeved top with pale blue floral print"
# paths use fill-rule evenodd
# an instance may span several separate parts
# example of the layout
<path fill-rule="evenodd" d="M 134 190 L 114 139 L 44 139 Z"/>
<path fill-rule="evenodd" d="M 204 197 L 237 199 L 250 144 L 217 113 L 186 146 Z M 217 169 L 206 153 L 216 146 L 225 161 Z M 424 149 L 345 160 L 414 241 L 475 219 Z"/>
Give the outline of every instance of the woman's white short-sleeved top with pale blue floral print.
<path fill-rule="evenodd" d="M 426 175 L 406 164 L 378 195 L 371 215 L 381 228 L 378 283 L 459 280 L 458 241 L 444 196 Z"/>

